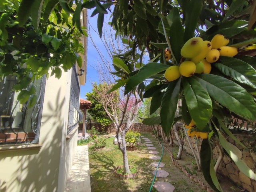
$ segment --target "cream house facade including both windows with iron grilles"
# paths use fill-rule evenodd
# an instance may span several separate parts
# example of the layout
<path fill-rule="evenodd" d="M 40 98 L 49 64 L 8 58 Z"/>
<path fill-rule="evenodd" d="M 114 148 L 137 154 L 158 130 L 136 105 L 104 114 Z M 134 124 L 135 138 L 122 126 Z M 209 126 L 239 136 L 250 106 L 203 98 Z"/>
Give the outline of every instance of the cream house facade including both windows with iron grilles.
<path fill-rule="evenodd" d="M 81 14 L 86 26 L 86 10 Z M 86 50 L 82 68 L 77 64 L 35 82 L 38 99 L 28 107 L 11 91 L 13 77 L 0 83 L 0 191 L 63 192 L 77 145 L 80 86 L 86 80 Z"/>

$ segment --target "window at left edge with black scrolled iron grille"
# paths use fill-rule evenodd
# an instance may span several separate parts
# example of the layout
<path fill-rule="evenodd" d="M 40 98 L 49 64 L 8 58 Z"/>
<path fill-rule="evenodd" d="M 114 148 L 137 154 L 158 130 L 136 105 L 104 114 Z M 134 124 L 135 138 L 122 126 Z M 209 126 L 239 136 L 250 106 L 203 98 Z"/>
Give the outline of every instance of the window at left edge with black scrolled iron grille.
<path fill-rule="evenodd" d="M 38 99 L 30 108 L 17 100 L 18 92 L 12 90 L 16 82 L 15 76 L 0 82 L 0 144 L 37 143 L 46 77 L 35 80 Z"/>

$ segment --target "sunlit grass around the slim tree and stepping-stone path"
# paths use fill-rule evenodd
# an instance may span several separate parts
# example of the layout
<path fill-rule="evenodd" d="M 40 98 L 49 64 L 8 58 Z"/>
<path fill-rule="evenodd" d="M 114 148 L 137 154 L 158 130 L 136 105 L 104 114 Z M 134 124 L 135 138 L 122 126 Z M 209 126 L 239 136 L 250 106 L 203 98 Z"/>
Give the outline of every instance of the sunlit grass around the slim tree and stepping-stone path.
<path fill-rule="evenodd" d="M 159 152 L 158 156 L 162 154 L 162 147 L 152 138 L 151 134 L 142 134 L 151 139 L 152 144 Z M 156 169 L 150 164 L 154 161 L 148 158 L 147 146 L 144 144 L 136 145 L 136 150 L 128 151 L 128 160 L 130 166 L 137 167 L 138 178 L 136 180 L 120 180 L 114 177 L 114 170 L 117 166 L 123 165 L 122 152 L 118 149 L 118 145 L 113 144 L 114 138 L 108 138 L 104 150 L 96 151 L 94 146 L 89 146 L 89 163 L 91 175 L 91 189 L 92 192 L 148 192 L 154 178 L 152 172 Z M 162 161 L 165 166 L 159 168 L 170 173 L 167 178 L 156 178 L 157 181 L 170 182 L 176 187 L 176 192 L 203 192 L 199 186 L 191 182 L 184 173 L 180 172 L 178 168 L 172 165 L 170 154 L 164 151 Z M 154 183 L 155 183 L 154 182 Z M 156 192 L 153 187 L 152 192 Z"/>

